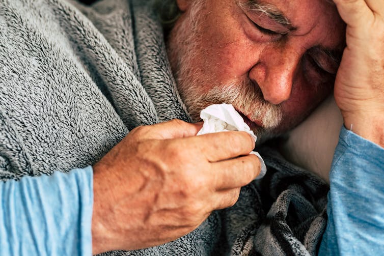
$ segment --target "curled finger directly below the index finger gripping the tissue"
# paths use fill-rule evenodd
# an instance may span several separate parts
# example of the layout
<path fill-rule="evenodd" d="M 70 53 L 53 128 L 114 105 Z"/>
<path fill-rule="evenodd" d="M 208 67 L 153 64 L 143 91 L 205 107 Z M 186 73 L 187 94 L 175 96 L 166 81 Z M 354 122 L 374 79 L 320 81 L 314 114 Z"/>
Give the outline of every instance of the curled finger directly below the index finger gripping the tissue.
<path fill-rule="evenodd" d="M 216 190 L 239 188 L 254 180 L 261 170 L 260 159 L 254 154 L 211 164 Z"/>

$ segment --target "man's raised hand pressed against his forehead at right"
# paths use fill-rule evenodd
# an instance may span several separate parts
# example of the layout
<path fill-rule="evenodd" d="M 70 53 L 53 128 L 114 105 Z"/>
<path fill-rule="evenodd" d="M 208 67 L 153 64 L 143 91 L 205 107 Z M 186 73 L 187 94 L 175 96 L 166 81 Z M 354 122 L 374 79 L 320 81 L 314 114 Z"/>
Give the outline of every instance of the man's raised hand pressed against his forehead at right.
<path fill-rule="evenodd" d="M 384 146 L 384 1 L 334 0 L 347 23 L 335 99 L 344 124 Z"/>

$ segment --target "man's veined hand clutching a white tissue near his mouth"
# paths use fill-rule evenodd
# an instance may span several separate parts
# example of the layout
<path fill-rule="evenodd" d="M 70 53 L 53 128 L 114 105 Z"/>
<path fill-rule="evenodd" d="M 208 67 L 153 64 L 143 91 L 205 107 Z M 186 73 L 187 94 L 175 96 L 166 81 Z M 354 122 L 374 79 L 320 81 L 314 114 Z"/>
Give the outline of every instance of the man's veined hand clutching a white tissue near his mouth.
<path fill-rule="evenodd" d="M 260 172 L 245 132 L 179 120 L 133 129 L 94 166 L 93 252 L 175 240 L 235 204 Z"/>

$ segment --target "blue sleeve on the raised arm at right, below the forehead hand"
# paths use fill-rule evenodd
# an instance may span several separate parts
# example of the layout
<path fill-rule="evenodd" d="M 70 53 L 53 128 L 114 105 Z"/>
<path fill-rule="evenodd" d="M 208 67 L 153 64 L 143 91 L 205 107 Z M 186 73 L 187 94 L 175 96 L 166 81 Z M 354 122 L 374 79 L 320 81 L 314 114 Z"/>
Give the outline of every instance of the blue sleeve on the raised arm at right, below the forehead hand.
<path fill-rule="evenodd" d="M 319 255 L 383 255 L 384 149 L 343 127 L 330 182 Z"/>

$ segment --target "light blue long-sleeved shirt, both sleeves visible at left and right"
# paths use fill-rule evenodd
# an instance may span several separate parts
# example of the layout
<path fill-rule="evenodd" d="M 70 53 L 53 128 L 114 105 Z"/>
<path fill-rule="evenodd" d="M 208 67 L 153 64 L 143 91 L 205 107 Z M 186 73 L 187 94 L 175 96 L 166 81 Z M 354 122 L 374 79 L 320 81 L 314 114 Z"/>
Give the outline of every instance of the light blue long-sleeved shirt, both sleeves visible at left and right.
<path fill-rule="evenodd" d="M 330 181 L 319 254 L 383 254 L 384 149 L 342 128 Z M 92 254 L 91 166 L 0 183 L 0 198 L 0 255 Z"/>

